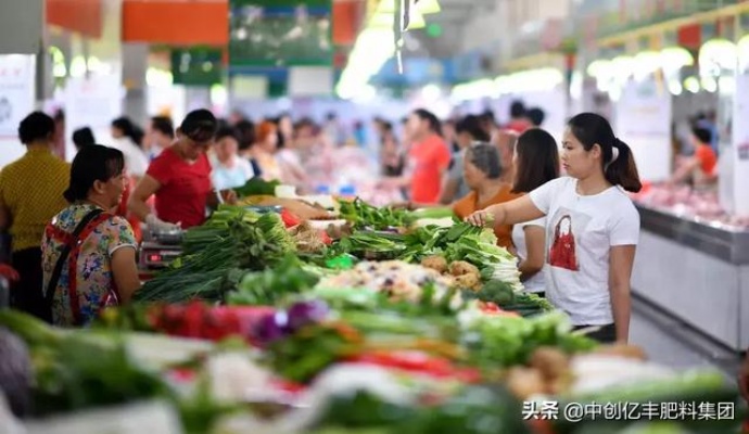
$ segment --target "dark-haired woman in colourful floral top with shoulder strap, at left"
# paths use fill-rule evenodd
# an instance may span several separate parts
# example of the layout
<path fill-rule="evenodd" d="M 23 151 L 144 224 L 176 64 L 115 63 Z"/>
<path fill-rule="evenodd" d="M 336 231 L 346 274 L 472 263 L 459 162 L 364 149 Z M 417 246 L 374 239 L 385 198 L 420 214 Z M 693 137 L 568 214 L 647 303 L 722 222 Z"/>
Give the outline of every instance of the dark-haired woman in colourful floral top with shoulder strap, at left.
<path fill-rule="evenodd" d="M 86 326 L 102 307 L 129 302 L 140 288 L 132 229 L 111 214 L 125 188 L 124 164 L 122 152 L 101 145 L 82 148 L 73 161 L 65 191 L 71 206 L 47 226 L 41 244 L 45 292 L 69 245 L 51 299 L 56 326 Z"/>

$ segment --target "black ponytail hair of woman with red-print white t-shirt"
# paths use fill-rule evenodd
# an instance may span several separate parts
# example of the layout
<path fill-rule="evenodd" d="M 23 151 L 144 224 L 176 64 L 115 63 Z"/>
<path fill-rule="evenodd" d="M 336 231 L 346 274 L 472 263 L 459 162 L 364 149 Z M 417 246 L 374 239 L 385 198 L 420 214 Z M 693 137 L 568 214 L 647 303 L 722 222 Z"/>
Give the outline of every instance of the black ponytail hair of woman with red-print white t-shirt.
<path fill-rule="evenodd" d="M 585 151 L 591 151 L 596 144 L 600 148 L 601 169 L 607 181 L 629 192 L 642 190 L 643 183 L 632 150 L 614 136 L 611 124 L 605 117 L 581 113 L 571 118 L 568 126 Z"/>

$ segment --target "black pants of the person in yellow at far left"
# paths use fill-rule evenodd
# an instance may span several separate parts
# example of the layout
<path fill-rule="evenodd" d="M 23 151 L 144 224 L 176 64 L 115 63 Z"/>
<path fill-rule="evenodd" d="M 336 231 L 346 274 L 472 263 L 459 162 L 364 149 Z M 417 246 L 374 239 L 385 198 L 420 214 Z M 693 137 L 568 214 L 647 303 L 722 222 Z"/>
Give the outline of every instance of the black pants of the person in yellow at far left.
<path fill-rule="evenodd" d="M 41 288 L 41 248 L 13 252 L 11 263 L 20 276 L 18 281 L 11 284 L 11 307 L 51 322 L 51 311 Z"/>

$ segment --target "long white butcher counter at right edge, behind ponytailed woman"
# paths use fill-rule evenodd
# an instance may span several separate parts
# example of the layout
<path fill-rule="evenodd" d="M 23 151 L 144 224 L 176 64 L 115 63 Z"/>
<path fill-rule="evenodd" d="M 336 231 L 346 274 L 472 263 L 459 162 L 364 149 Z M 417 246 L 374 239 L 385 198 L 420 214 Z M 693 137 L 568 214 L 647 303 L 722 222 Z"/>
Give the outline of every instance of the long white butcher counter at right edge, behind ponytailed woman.
<path fill-rule="evenodd" d="M 732 350 L 749 347 L 749 231 L 637 208 L 635 296 Z"/>

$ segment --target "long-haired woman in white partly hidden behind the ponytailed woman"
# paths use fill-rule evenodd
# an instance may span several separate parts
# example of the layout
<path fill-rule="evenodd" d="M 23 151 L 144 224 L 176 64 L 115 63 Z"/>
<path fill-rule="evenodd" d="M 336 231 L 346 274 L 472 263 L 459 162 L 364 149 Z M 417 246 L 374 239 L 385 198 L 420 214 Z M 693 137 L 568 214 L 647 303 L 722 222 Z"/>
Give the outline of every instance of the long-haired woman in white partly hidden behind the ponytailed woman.
<path fill-rule="evenodd" d="M 526 130 L 515 145 L 512 165 L 512 193 L 529 193 L 559 178 L 559 150 L 556 140 L 543 129 Z M 546 217 L 515 225 L 512 245 L 525 291 L 545 296 L 543 269 L 546 263 Z"/>

